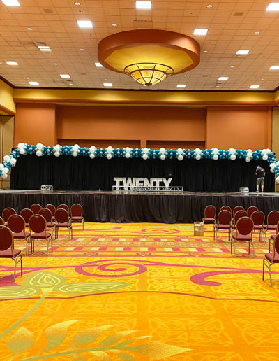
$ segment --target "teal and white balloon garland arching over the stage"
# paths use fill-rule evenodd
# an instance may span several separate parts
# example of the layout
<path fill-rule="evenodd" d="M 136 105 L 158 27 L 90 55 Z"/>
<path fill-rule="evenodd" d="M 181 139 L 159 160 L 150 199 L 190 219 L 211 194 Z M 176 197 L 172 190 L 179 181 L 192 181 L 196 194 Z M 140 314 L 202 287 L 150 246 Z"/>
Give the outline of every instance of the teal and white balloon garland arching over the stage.
<path fill-rule="evenodd" d="M 252 152 L 251 149 L 242 150 L 229 148 L 229 150 L 219 150 L 218 148 L 204 149 L 195 148 L 194 150 L 178 148 L 176 150 L 167 150 L 165 148 L 160 148 L 158 150 L 153 150 L 150 148 L 112 148 L 109 146 L 107 148 L 96 148 L 91 146 L 90 148 L 80 147 L 78 144 L 74 146 L 60 146 L 57 144 L 54 147 L 47 147 L 41 143 L 38 143 L 36 146 L 30 146 L 26 143 L 18 143 L 17 147 L 12 150 L 10 155 L 5 155 L 3 157 L 3 163 L 0 163 L 0 176 L 3 179 L 8 177 L 8 171 L 11 167 L 15 167 L 17 163 L 17 158 L 21 155 L 36 154 L 38 157 L 43 155 L 54 155 L 59 157 L 60 155 L 82 155 L 84 157 L 90 157 L 94 159 L 95 157 L 106 157 L 108 160 L 111 160 L 115 157 L 125 157 L 125 158 L 142 158 L 144 160 L 160 158 L 160 160 L 165 160 L 167 158 L 177 160 L 183 159 L 192 159 L 192 160 L 236 160 L 244 159 L 246 162 L 250 160 L 266 160 L 269 162 L 270 171 L 276 174 L 276 182 L 279 183 L 279 162 L 276 161 L 276 157 L 270 149 L 259 150 L 256 149 Z"/>

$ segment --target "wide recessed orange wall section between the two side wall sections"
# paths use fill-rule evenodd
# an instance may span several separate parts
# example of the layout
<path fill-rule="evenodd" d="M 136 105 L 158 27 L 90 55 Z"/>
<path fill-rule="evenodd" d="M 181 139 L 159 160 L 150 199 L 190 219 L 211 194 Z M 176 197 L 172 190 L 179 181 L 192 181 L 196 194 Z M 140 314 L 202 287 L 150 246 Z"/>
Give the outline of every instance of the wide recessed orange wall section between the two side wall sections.
<path fill-rule="evenodd" d="M 205 141 L 206 108 L 57 106 L 57 138 Z M 114 146 L 114 144 L 107 144 Z"/>

